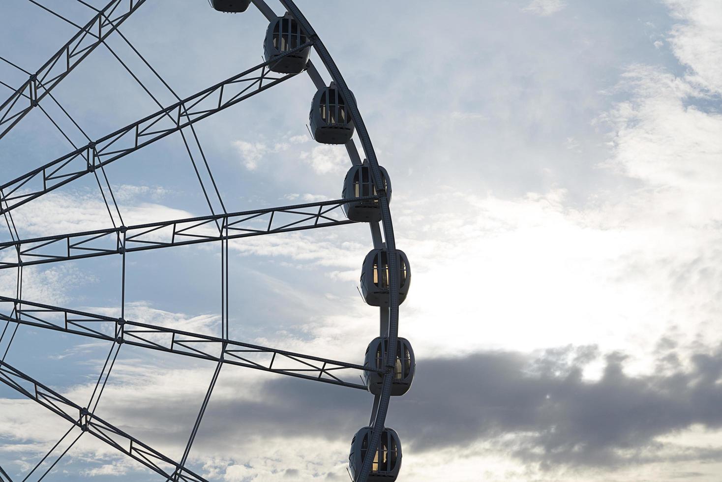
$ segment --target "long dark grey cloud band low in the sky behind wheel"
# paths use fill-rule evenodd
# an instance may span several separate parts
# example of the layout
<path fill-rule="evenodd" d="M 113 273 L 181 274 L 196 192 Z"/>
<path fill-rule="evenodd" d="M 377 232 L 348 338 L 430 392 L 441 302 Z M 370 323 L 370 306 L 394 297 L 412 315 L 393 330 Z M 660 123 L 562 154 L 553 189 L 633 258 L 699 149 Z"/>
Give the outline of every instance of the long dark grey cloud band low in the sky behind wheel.
<path fill-rule="evenodd" d="M 676 350 L 675 343 L 662 340 L 657 372 L 642 376 L 625 373 L 624 354 L 602 355 L 594 346 L 539 356 L 491 351 L 421 359 L 412 390 L 391 404 L 388 426 L 416 453 L 485 441 L 541 468 L 722 460 L 720 450 L 656 440 L 695 424 L 722 425 L 722 348 L 687 357 Z M 583 369 L 593 361 L 601 361 L 604 371 L 598 380 L 585 380 Z M 367 424 L 372 401 L 359 391 L 286 378 L 248 390 L 257 390 L 251 401 L 212 400 L 194 447 L 217 453 L 278 436 L 348 442 Z M 186 424 L 179 421 L 191 421 L 196 406 L 164 407 L 163 413 L 134 418 L 147 416 L 144 436 L 167 443 L 170 437 L 183 439 Z M 150 429 L 159 418 L 177 429 L 165 434 Z"/>

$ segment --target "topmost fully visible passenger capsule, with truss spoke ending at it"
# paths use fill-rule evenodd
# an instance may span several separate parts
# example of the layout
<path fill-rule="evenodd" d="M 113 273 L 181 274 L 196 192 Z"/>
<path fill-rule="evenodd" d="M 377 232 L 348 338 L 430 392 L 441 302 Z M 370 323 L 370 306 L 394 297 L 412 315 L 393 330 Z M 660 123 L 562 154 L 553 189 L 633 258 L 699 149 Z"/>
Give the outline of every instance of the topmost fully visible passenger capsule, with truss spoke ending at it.
<path fill-rule="evenodd" d="M 278 17 L 269 24 L 266 29 L 266 40 L 264 41 L 264 55 L 266 62 L 282 56 L 287 51 L 292 51 L 306 43 L 306 35 L 291 14 L 286 12 L 284 17 Z M 306 47 L 301 51 L 284 56 L 276 63 L 271 63 L 269 69 L 279 74 L 299 74 L 306 68 L 311 48 Z"/>

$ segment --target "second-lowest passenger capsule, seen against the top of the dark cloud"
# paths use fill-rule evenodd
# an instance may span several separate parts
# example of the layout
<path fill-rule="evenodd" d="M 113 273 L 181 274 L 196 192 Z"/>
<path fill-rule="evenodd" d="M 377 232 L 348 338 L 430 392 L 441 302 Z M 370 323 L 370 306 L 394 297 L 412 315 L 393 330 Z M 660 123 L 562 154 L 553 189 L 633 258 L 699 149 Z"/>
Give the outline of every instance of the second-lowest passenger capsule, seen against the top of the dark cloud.
<path fill-rule="evenodd" d="M 386 364 L 386 353 L 388 352 L 388 338 L 374 338 L 366 349 L 364 367 L 383 370 Z M 393 383 L 391 395 L 404 395 L 411 388 L 416 372 L 416 359 L 414 350 L 406 338 L 399 338 L 396 341 L 396 363 L 393 370 Z M 383 385 L 383 374 L 376 372 L 364 372 L 364 379 L 368 391 L 373 395 L 380 395 Z"/>

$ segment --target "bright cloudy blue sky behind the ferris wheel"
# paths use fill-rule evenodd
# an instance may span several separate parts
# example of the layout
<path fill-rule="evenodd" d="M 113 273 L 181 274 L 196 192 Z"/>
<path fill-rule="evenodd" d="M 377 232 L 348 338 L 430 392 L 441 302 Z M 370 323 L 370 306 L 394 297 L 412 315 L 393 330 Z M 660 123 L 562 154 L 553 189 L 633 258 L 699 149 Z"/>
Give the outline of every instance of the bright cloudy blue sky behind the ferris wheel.
<path fill-rule="evenodd" d="M 79 24 L 93 15 L 38 1 Z M 719 1 L 297 4 L 354 92 L 412 266 L 399 336 L 417 374 L 386 422 L 403 446 L 399 480 L 718 481 Z M 0 18 L 0 56 L 28 71 L 74 35 L 27 0 L 2 2 Z M 186 97 L 261 63 L 266 26 L 253 7 L 147 0 L 119 30 Z M 157 110 L 110 49 L 161 105 L 174 102 L 123 38 L 108 47 L 53 90 L 92 139 Z M 0 61 L 0 81 L 25 78 Z M 196 123 L 229 211 L 340 197 L 350 163 L 310 138 L 314 92 L 297 76 Z M 87 142 L 57 105 L 41 105 Z M 0 181 L 71 150 L 36 108 L 0 139 Z M 178 133 L 106 173 L 126 224 L 209 214 Z M 112 227 L 91 176 L 13 215 L 23 238 Z M 357 292 L 371 247 L 361 224 L 231 242 L 231 338 L 362 363 L 378 336 Z M 219 251 L 129 254 L 126 318 L 218 335 Z M 119 316 L 120 270 L 116 256 L 27 266 L 23 297 Z M 14 296 L 15 274 L 0 270 L 1 295 Z M 108 350 L 21 326 L 5 361 L 82 406 Z M 121 347 L 96 413 L 180 460 L 215 365 L 149 351 Z M 372 403 L 361 390 L 225 366 L 188 465 L 212 481 L 347 480 Z M 14 481 L 69 428 L 0 387 L 0 466 Z M 81 437 L 44 480 L 86 479 L 159 480 Z"/>

